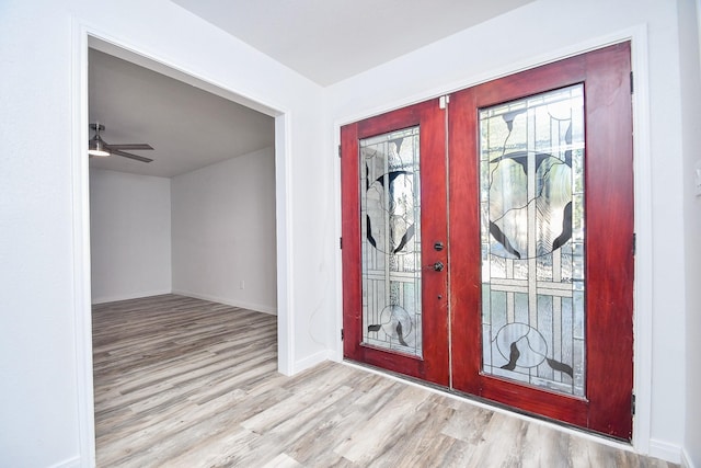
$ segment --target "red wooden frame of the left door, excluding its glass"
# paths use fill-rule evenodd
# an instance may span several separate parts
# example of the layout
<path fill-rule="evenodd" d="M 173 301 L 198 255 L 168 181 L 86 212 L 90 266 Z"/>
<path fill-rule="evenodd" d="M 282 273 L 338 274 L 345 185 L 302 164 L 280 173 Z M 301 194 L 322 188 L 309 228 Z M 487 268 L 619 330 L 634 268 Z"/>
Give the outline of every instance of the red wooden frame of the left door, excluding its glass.
<path fill-rule="evenodd" d="M 363 344 L 361 235 L 358 141 L 392 130 L 420 126 L 422 265 L 447 263 L 446 129 L 438 100 L 430 100 L 341 129 L 343 328 L 344 357 L 447 386 L 448 290 L 447 272 L 423 269 L 423 358 Z M 430 187 L 428 190 L 427 187 Z M 436 209 L 437 208 L 437 209 Z"/>

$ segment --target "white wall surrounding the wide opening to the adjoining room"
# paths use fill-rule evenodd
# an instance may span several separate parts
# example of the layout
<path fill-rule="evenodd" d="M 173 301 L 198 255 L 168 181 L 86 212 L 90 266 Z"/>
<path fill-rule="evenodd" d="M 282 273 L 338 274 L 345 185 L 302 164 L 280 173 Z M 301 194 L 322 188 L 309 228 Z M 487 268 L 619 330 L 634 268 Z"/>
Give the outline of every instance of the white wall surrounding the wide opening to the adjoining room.
<path fill-rule="evenodd" d="M 310 316 L 332 310 L 333 175 L 322 90 L 168 0 L 0 2 L 0 465 L 91 466 L 85 35 L 280 111 L 277 183 L 286 373 L 323 359 Z M 279 203 L 281 201 L 283 203 Z M 310 209 L 314 206 L 314 209 Z M 299 239 L 299 242 L 295 240 Z M 313 248 L 310 248 L 313 246 Z M 299 278 L 299 279 L 297 279 Z M 309 283 L 297 287 L 297 282 Z M 322 335 L 325 338 L 325 335 Z M 315 341 L 314 341 L 315 340 Z"/>

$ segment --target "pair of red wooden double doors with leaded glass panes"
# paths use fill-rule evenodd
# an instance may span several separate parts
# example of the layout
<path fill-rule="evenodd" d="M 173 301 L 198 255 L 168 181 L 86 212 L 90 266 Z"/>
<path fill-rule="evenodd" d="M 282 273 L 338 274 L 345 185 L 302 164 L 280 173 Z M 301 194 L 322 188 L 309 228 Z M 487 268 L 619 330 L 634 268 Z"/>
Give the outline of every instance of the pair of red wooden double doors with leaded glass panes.
<path fill-rule="evenodd" d="M 342 129 L 346 358 L 631 438 L 630 72 L 619 44 Z"/>

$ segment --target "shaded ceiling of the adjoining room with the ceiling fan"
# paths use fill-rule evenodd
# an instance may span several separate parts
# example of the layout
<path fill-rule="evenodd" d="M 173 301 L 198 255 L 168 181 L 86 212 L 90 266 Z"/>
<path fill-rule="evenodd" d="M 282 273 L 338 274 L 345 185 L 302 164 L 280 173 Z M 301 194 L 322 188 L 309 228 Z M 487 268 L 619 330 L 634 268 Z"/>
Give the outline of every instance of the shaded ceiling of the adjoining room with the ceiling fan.
<path fill-rule="evenodd" d="M 171 178 L 275 145 L 273 117 L 92 48 L 89 61 L 90 122 L 105 126 L 102 138 L 153 147 L 127 151 L 153 162 L 111 156 L 91 168 Z"/>

